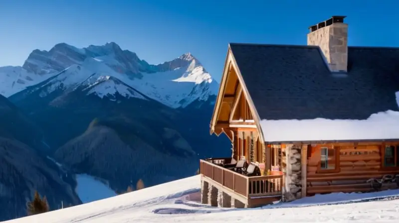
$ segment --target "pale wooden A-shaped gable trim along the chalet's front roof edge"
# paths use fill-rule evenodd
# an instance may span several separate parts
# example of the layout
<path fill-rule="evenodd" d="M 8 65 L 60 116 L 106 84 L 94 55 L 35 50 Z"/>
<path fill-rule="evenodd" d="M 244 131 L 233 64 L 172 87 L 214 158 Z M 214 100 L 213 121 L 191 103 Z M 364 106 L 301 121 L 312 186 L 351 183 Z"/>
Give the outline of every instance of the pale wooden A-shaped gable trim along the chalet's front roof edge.
<path fill-rule="evenodd" d="M 253 119 L 254 119 L 254 124 L 256 125 L 256 128 L 257 128 L 257 130 L 259 132 L 260 140 L 264 141 L 263 132 L 262 132 L 262 129 L 261 129 L 261 126 L 260 126 L 259 114 L 256 111 L 256 108 L 255 108 L 255 106 L 253 104 L 253 101 L 252 101 L 252 99 L 251 99 L 251 97 L 249 95 L 248 89 L 247 89 L 247 87 L 246 87 L 246 85 L 244 83 L 244 80 L 243 80 L 241 72 L 240 72 L 240 70 L 238 68 L 237 62 L 235 61 L 234 55 L 233 55 L 233 53 L 231 51 L 230 45 L 228 46 L 227 55 L 226 55 L 226 59 L 225 59 L 225 62 L 224 62 L 223 75 L 222 75 L 222 79 L 221 79 L 221 82 L 220 82 L 220 85 L 219 85 L 219 91 L 217 93 L 216 103 L 215 103 L 215 106 L 213 108 L 213 114 L 212 114 L 212 118 L 211 118 L 211 121 L 210 121 L 209 132 L 210 132 L 210 134 L 212 134 L 215 131 L 215 125 L 217 123 L 217 119 L 218 119 L 218 116 L 219 116 L 219 113 L 220 113 L 221 103 L 222 103 L 222 100 L 223 100 L 223 95 L 224 95 L 224 92 L 225 92 L 227 76 L 228 76 L 228 72 L 229 72 L 230 68 L 233 68 L 235 73 L 236 73 L 236 75 L 237 75 L 238 82 L 239 82 L 239 84 L 240 84 L 240 86 L 242 88 L 242 90 L 240 90 L 240 91 L 242 91 L 242 94 L 244 94 L 245 99 L 246 99 L 246 101 L 248 103 L 249 110 L 251 111 Z M 234 97 L 230 97 L 230 98 L 231 98 L 231 100 L 234 99 Z"/>

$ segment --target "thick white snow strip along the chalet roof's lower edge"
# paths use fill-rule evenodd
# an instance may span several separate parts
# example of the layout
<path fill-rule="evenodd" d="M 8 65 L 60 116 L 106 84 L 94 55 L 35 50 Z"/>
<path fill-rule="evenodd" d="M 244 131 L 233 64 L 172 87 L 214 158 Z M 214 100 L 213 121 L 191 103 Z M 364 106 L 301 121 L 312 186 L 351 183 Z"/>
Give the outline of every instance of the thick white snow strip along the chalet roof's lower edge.
<path fill-rule="evenodd" d="M 262 119 L 260 126 L 267 142 L 399 139 L 399 112 L 378 112 L 364 120 Z"/>

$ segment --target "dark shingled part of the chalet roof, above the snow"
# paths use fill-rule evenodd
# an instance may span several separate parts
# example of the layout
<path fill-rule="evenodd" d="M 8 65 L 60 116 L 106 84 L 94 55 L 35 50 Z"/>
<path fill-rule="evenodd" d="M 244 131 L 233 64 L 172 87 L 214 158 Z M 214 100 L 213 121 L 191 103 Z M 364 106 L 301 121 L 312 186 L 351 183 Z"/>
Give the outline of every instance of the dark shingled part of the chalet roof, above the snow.
<path fill-rule="evenodd" d="M 399 48 L 349 47 L 331 73 L 318 46 L 230 44 L 261 119 L 366 119 L 399 111 Z"/>

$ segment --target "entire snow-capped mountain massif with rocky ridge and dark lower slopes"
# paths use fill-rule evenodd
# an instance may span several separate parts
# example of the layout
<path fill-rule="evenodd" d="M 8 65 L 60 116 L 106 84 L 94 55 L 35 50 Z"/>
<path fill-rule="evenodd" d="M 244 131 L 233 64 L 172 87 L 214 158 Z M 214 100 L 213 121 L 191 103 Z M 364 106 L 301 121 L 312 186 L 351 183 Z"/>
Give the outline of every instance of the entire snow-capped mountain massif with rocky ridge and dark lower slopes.
<path fill-rule="evenodd" d="M 209 135 L 218 84 L 190 53 L 150 65 L 115 43 L 57 44 L 21 69 L 46 77 L 12 95 L 5 88 L 43 129 L 40 151 L 114 191 L 191 176 L 199 158 L 230 153 L 227 137 Z"/>

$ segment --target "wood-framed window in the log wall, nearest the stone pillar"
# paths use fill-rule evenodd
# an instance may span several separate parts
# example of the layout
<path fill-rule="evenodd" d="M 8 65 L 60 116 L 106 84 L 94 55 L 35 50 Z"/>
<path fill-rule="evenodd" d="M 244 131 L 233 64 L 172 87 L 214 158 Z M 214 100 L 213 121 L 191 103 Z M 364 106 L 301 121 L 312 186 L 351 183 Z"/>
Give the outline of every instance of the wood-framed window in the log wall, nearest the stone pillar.
<path fill-rule="evenodd" d="M 320 148 L 320 166 L 321 172 L 339 171 L 339 148 L 338 147 L 321 147 Z"/>

